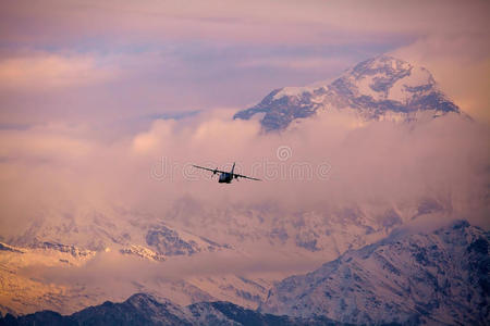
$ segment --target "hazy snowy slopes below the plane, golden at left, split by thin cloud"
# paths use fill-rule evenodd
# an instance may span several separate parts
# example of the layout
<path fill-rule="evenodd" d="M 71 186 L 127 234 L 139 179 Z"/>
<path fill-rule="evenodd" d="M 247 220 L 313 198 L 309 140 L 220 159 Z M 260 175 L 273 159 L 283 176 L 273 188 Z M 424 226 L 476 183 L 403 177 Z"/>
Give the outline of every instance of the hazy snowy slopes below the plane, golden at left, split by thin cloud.
<path fill-rule="evenodd" d="M 76 266 L 83 269 L 87 264 L 102 263 L 108 254 L 121 263 L 127 259 L 130 264 L 136 259 L 156 264 L 156 268 L 161 265 L 162 269 L 172 268 L 174 262 L 192 264 L 203 254 L 225 254 L 232 261 L 254 264 L 255 255 L 259 254 L 257 248 L 274 252 L 278 262 L 309 262 L 309 267 L 301 269 L 307 272 L 348 249 L 384 238 L 406 221 L 443 214 L 445 205 L 443 201 L 425 199 L 414 204 L 405 202 L 403 206 L 378 203 L 376 208 L 353 205 L 287 213 L 265 206 L 230 205 L 216 210 L 187 198 L 166 216 L 122 210 L 72 214 L 70 218 L 49 216 L 48 221 L 34 221 L 25 234 L 7 239 L 9 244 L 0 247 L 3 284 L 0 311 L 32 313 L 50 309 L 72 313 L 101 300 L 120 301 L 138 291 L 164 296 L 179 304 L 222 300 L 256 309 L 273 281 L 299 272 L 281 269 L 273 275 L 247 275 L 232 269 L 181 278 L 158 275 L 148 278 L 136 273 L 131 281 L 123 278 L 118 285 L 124 289 L 122 292 L 111 291 L 114 285 L 95 287 L 83 280 L 63 285 L 50 283 L 36 273 L 21 272 L 33 266 L 35 271 Z"/>

